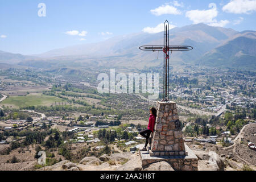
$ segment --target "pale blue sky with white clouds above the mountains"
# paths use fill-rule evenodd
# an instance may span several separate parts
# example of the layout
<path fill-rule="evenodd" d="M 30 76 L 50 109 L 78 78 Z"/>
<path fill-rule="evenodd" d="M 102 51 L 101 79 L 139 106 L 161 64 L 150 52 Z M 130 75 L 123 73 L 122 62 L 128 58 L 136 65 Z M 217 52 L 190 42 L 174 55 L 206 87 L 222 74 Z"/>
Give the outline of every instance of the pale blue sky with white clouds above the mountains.
<path fill-rule="evenodd" d="M 38 16 L 39 3 L 46 5 L 46 16 Z M 118 35 L 154 33 L 166 19 L 171 27 L 203 22 L 256 30 L 255 11 L 256 0 L 0 0 L 0 50 L 30 55 Z"/>

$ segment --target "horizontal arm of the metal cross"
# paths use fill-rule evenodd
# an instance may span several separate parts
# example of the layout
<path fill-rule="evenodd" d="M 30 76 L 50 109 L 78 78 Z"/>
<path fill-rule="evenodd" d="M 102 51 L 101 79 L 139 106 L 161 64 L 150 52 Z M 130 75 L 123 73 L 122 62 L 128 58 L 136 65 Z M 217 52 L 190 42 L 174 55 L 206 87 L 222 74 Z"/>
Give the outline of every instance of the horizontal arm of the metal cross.
<path fill-rule="evenodd" d="M 141 46 L 142 51 L 163 51 L 164 46 Z M 191 46 L 169 46 L 169 51 L 190 51 Z"/>

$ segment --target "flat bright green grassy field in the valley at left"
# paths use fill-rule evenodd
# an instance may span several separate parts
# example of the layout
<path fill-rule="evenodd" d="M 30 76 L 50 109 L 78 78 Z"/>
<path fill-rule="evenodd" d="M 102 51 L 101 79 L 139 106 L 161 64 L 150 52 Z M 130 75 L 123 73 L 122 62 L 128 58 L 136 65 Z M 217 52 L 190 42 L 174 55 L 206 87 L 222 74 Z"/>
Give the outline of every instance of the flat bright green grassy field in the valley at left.
<path fill-rule="evenodd" d="M 1 105 L 11 106 L 14 108 L 44 105 L 50 106 L 55 102 L 61 102 L 60 98 L 54 96 L 42 96 L 40 93 L 28 94 L 27 96 L 10 96 L 6 98 Z"/>

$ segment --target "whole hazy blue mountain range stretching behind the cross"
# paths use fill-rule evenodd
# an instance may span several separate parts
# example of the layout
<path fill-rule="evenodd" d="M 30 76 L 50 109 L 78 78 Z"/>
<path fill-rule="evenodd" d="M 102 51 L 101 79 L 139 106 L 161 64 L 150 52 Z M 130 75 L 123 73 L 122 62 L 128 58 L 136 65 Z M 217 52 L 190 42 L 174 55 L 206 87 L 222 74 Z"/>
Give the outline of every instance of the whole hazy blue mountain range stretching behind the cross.
<path fill-rule="evenodd" d="M 53 49 L 38 55 L 0 51 L 0 63 L 28 67 L 147 68 L 162 65 L 163 52 L 141 51 L 139 46 L 162 45 L 163 32 L 116 36 L 99 43 Z M 204 23 L 170 30 L 170 45 L 192 46 L 192 51 L 173 51 L 171 61 L 209 67 L 256 68 L 256 31 L 238 32 Z"/>

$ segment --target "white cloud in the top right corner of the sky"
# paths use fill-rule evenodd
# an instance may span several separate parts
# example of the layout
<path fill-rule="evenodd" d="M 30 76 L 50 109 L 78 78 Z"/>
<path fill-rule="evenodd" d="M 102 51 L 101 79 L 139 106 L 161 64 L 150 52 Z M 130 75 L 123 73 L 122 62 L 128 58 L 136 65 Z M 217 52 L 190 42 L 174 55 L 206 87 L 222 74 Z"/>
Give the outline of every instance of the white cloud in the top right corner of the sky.
<path fill-rule="evenodd" d="M 256 0 L 231 0 L 222 10 L 227 13 L 250 14 L 256 11 Z"/>

